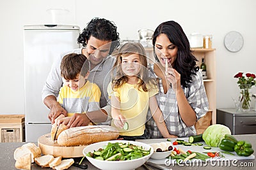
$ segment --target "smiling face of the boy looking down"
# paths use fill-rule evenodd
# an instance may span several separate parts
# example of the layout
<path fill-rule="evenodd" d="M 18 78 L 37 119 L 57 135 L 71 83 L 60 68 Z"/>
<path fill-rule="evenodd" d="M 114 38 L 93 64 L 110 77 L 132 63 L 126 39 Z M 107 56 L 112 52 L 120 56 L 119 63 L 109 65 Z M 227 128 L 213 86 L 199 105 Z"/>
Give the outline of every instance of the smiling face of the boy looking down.
<path fill-rule="evenodd" d="M 72 91 L 76 92 L 79 88 L 83 87 L 86 83 L 86 79 L 88 78 L 89 72 L 86 74 L 86 76 L 81 76 L 80 74 L 76 75 L 76 79 L 74 80 L 65 80 L 63 79 L 63 82 L 67 87 L 71 88 Z"/>

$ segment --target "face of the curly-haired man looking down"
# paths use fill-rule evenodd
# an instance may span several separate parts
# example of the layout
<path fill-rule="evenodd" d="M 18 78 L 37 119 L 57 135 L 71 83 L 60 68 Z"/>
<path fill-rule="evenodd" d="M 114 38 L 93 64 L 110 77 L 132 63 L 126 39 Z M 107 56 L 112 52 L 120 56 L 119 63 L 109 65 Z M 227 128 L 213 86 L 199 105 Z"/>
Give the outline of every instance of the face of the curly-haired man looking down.
<path fill-rule="evenodd" d="M 103 41 L 90 36 L 87 41 L 87 53 L 89 54 L 88 60 L 90 60 L 91 66 L 94 67 L 108 56 L 111 47 L 111 40 Z"/>

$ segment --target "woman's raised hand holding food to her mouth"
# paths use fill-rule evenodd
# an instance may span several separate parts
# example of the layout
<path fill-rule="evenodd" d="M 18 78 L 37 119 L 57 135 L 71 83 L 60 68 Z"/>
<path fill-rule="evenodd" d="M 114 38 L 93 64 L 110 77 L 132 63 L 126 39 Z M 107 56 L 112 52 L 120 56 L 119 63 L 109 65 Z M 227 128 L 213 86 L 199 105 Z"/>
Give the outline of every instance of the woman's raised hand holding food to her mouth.
<path fill-rule="evenodd" d="M 181 89 L 180 74 L 178 73 L 178 71 L 173 68 L 168 68 L 165 71 L 165 77 L 166 80 L 170 81 L 170 83 L 172 84 L 172 89 L 175 90 L 175 92 L 177 91 L 177 89 Z"/>

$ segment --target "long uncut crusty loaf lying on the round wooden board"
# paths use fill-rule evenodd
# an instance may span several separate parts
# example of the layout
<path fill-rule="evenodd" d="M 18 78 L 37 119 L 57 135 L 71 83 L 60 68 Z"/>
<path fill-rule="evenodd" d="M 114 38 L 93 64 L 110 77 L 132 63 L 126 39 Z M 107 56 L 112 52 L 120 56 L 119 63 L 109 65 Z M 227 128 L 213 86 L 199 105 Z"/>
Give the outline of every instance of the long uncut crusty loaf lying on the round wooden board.
<path fill-rule="evenodd" d="M 72 127 L 58 136 L 61 146 L 90 145 L 100 141 L 109 141 L 118 138 L 119 132 L 109 125 L 88 125 Z"/>

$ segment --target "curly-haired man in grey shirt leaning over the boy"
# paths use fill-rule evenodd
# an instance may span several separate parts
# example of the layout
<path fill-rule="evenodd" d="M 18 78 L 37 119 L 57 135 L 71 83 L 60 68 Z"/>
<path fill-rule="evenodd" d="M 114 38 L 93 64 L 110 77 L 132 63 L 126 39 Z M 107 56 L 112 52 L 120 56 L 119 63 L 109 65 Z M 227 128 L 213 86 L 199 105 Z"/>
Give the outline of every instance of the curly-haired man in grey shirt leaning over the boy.
<path fill-rule="evenodd" d="M 116 32 L 115 24 L 104 18 L 93 18 L 79 35 L 79 38 L 77 38 L 77 43 L 81 43 L 83 48 L 67 52 L 82 53 L 90 61 L 88 80 L 99 86 L 101 91 L 100 107 L 102 108 L 99 111 L 86 112 L 86 114 L 74 114 L 67 124 L 68 127 L 88 125 L 90 120 L 92 122 L 106 122 L 109 120 L 108 114 L 110 115 L 111 106 L 107 105 L 107 87 L 110 82 L 110 74 L 108 73 L 115 63 L 115 57 L 112 57 L 110 54 L 118 48 L 119 40 L 119 33 Z M 63 83 L 60 74 L 60 63 L 63 56 L 67 53 L 63 53 L 54 63 L 42 90 L 44 104 L 51 110 L 48 118 L 52 123 L 60 114 L 67 116 L 67 111 L 56 101 Z"/>

